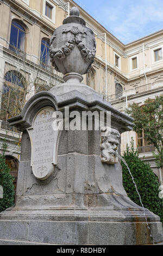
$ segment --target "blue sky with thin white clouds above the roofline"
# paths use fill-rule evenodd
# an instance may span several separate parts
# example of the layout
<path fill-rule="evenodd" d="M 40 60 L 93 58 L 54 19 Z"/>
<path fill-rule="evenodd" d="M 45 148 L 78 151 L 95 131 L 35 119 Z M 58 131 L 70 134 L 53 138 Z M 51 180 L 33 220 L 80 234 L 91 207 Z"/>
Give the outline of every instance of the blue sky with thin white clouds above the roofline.
<path fill-rule="evenodd" d="M 74 0 L 123 44 L 163 29 L 163 0 Z"/>

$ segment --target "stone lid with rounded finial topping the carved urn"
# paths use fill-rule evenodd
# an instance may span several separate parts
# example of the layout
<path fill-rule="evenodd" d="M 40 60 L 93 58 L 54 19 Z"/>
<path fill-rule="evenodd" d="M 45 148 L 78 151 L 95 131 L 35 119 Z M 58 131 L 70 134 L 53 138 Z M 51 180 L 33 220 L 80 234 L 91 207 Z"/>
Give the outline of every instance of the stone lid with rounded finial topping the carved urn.
<path fill-rule="evenodd" d="M 79 17 L 79 9 L 77 7 L 72 7 L 70 10 L 70 16 L 64 19 L 63 25 L 68 23 L 78 23 L 83 26 L 86 25 L 85 20 L 83 20 L 81 17 Z"/>

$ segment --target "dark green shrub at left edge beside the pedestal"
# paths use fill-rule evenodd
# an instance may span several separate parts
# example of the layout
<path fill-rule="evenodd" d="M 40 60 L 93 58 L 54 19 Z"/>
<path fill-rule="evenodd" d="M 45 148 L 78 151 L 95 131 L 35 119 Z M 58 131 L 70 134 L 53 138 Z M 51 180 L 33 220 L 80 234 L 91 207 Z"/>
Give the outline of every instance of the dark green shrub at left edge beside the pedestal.
<path fill-rule="evenodd" d="M 4 145 L 3 145 L 4 147 Z M 0 185 L 3 187 L 3 198 L 0 198 L 0 212 L 14 204 L 14 184 L 10 168 L 5 163 L 4 151 L 0 154 Z"/>

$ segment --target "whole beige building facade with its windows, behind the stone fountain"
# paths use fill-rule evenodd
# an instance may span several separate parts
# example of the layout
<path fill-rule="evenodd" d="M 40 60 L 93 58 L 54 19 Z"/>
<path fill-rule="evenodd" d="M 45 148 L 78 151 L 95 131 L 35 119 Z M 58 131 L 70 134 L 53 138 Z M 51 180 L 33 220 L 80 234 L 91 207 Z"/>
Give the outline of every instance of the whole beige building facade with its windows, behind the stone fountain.
<path fill-rule="evenodd" d="M 97 42 L 95 62 L 84 75 L 84 83 L 122 112 L 129 103 L 141 106 L 148 97 L 154 99 L 163 93 L 163 30 L 124 45 L 72 0 L 0 0 L 0 142 L 7 141 L 5 155 L 15 180 L 21 133 L 9 126 L 7 119 L 20 114 L 35 93 L 62 82 L 62 75 L 49 63 L 49 40 L 73 6 L 79 8 Z M 140 157 L 151 163 L 162 181 L 152 154 L 155 149 L 143 134 L 123 133 L 122 153 L 131 137 Z"/>

